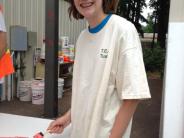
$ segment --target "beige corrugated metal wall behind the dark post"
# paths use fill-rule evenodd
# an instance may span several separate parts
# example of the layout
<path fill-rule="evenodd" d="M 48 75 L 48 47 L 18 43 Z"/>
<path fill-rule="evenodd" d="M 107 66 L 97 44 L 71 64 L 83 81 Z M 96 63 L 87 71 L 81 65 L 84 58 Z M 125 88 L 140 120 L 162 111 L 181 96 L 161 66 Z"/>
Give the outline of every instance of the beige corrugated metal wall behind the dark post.
<path fill-rule="evenodd" d="M 4 9 L 8 36 L 11 25 L 26 26 L 28 31 L 37 32 L 37 47 L 41 47 L 45 36 L 45 0 L 0 0 L 0 4 Z M 86 22 L 70 20 L 68 3 L 60 0 L 59 4 L 59 35 L 69 36 L 70 43 L 75 43 Z"/>

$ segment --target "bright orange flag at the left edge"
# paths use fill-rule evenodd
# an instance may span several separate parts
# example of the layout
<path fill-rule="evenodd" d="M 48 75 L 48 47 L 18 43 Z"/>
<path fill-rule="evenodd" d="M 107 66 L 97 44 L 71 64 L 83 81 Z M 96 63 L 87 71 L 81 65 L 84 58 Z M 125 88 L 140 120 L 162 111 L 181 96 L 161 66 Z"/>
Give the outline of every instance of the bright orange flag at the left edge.
<path fill-rule="evenodd" d="M 9 50 L 0 59 L 0 79 L 14 73 L 13 62 Z"/>

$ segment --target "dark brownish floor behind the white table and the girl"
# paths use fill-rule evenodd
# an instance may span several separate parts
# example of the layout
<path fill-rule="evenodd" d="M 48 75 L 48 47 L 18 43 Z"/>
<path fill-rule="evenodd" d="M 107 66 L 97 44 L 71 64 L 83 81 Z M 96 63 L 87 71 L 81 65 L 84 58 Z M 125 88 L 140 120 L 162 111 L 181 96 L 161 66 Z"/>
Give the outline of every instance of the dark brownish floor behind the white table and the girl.
<path fill-rule="evenodd" d="M 152 99 L 141 101 L 133 119 L 131 138 L 159 138 L 159 122 L 162 96 L 162 81 L 149 79 Z M 59 115 L 63 115 L 71 106 L 71 92 L 65 92 L 59 100 Z M 21 102 L 14 99 L 0 103 L 0 112 L 44 117 L 43 105 L 33 105 L 31 102 Z"/>

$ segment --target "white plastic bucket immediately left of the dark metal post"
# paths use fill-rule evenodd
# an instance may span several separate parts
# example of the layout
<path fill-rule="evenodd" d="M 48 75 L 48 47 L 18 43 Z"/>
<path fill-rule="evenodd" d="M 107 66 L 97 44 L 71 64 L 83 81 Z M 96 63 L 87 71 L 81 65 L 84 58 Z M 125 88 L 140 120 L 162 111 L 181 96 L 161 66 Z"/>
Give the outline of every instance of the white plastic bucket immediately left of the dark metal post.
<path fill-rule="evenodd" d="M 35 80 L 32 82 L 32 104 L 44 104 L 44 82 Z"/>

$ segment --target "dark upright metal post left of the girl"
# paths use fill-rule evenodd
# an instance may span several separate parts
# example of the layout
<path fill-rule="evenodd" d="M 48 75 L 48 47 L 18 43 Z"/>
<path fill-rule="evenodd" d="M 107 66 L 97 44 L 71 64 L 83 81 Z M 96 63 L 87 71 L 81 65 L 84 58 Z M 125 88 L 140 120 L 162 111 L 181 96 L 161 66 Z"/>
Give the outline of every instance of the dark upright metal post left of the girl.
<path fill-rule="evenodd" d="M 58 10 L 59 0 L 45 1 L 45 98 L 44 116 L 58 115 Z"/>

